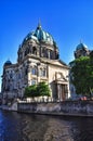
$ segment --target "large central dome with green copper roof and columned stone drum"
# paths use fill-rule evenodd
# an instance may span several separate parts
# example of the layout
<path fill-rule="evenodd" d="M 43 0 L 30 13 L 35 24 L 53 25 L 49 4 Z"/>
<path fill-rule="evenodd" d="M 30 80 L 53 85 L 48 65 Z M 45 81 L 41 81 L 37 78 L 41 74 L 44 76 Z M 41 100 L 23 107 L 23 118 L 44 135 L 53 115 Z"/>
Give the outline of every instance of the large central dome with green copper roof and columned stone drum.
<path fill-rule="evenodd" d="M 38 24 L 35 31 L 30 31 L 24 38 L 17 54 L 18 62 L 22 62 L 28 54 L 50 60 L 57 60 L 59 57 L 56 42 L 49 33 L 42 29 L 40 24 Z"/>

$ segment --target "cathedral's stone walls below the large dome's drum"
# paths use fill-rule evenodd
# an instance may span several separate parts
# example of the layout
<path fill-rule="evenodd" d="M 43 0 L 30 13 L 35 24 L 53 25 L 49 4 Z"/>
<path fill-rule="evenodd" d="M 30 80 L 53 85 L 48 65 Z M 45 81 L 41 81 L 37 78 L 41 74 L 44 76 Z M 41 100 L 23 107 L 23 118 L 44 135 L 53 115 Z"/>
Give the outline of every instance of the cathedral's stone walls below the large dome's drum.
<path fill-rule="evenodd" d="M 44 61 L 44 60 L 43 60 Z M 27 64 L 27 62 L 29 62 Z M 49 61 L 50 62 L 50 61 Z M 35 59 L 28 59 L 23 64 L 18 65 L 17 67 L 8 67 L 5 68 L 5 72 L 8 74 L 8 77 L 5 79 L 10 80 L 11 74 L 13 74 L 10 84 L 9 81 L 4 81 L 3 84 L 11 86 L 10 89 L 6 91 L 6 89 L 3 91 L 4 97 L 19 97 L 22 98 L 24 95 L 25 87 L 38 84 L 40 81 L 45 81 L 49 84 L 51 89 L 51 97 L 58 94 L 57 93 L 57 82 L 58 84 L 65 84 L 67 85 L 68 93 L 67 98 L 69 98 L 69 82 L 68 82 L 68 68 L 63 67 L 63 65 L 56 61 L 55 63 L 46 63 L 40 62 L 39 60 Z M 57 64 L 57 65 L 56 65 Z M 36 68 L 36 72 L 32 72 L 32 68 Z M 27 74 L 26 74 L 27 69 Z M 41 74 L 41 69 L 45 70 L 44 74 Z M 32 74 L 35 73 L 35 74 Z M 5 75 L 5 74 L 4 74 Z M 59 80 L 59 81 L 58 81 Z"/>

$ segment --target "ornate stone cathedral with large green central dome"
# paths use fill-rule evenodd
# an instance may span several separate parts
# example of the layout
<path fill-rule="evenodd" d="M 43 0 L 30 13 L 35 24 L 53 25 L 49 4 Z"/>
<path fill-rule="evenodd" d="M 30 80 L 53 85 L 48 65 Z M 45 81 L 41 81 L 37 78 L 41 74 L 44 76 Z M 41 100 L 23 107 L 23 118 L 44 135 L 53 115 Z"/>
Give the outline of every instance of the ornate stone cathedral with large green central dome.
<path fill-rule="evenodd" d="M 69 98 L 68 75 L 69 67 L 59 60 L 55 40 L 39 23 L 19 44 L 17 62 L 3 64 L 1 92 L 3 99 L 23 98 L 26 87 L 45 81 L 51 100 L 64 101 Z"/>

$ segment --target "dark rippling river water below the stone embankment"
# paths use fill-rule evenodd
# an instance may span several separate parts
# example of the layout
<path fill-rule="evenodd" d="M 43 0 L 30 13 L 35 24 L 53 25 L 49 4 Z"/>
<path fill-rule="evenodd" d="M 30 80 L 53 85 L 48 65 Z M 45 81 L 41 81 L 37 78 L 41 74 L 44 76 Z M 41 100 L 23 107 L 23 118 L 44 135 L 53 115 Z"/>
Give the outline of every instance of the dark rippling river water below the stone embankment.
<path fill-rule="evenodd" d="M 0 111 L 0 141 L 93 141 L 93 118 Z"/>

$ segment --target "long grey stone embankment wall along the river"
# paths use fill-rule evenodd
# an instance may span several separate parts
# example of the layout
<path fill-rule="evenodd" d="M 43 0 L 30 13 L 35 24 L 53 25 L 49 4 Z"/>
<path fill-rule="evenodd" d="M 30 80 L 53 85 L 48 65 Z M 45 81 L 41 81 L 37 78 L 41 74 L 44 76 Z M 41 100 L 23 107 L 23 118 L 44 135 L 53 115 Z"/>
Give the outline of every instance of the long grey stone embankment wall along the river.
<path fill-rule="evenodd" d="M 93 101 L 18 103 L 17 111 L 38 114 L 93 116 Z"/>

